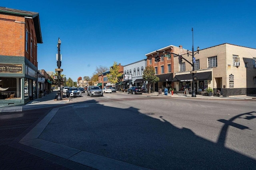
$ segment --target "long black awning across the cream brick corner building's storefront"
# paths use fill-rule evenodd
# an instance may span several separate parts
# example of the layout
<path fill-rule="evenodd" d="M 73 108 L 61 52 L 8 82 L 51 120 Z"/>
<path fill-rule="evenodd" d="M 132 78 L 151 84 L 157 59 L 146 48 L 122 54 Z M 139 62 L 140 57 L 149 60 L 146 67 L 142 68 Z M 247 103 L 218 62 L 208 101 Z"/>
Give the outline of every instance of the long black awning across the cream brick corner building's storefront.
<path fill-rule="evenodd" d="M 198 72 L 195 73 L 195 77 L 197 77 L 197 80 L 212 80 L 212 72 Z M 173 82 L 190 82 L 192 81 L 192 74 L 181 74 L 176 75 L 173 80 Z"/>

